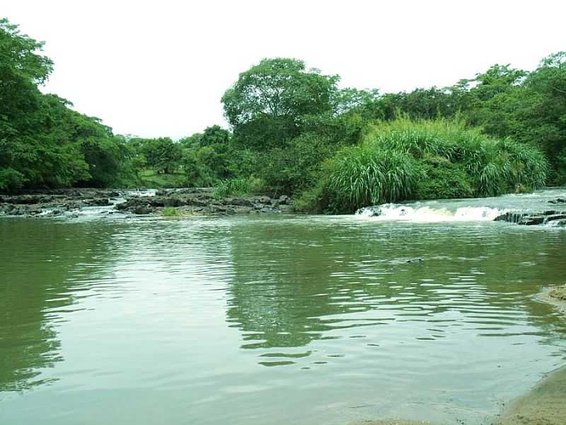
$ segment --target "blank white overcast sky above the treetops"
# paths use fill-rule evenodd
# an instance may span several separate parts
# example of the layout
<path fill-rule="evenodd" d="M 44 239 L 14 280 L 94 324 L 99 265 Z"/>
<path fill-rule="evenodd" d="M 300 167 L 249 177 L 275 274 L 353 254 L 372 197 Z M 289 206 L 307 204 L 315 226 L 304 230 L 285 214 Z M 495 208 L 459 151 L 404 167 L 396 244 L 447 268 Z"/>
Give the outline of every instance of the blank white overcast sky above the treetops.
<path fill-rule="evenodd" d="M 44 40 L 44 91 L 115 132 L 173 138 L 226 126 L 220 98 L 263 57 L 297 57 L 341 86 L 448 86 L 495 63 L 566 50 L 562 0 L 1 0 Z"/>

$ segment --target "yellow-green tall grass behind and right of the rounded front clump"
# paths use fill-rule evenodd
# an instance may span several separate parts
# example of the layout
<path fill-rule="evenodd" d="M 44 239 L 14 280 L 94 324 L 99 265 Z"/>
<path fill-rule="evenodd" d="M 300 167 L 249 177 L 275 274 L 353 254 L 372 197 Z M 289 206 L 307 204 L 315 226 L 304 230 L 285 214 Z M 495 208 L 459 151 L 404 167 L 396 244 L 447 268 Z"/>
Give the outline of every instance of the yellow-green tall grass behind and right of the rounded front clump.
<path fill-rule="evenodd" d="M 376 150 L 404 152 L 422 162 L 437 158 L 437 169 L 431 171 L 430 167 L 424 167 L 420 184 L 448 176 L 450 169 L 458 175 L 463 171 L 473 189 L 464 191 L 469 196 L 497 196 L 518 188 L 532 190 L 543 186 L 548 174 L 548 163 L 536 147 L 493 139 L 458 120 L 398 118 L 377 123 L 366 132 L 364 145 Z M 439 172 L 439 167 L 444 167 L 445 172 Z M 458 179 L 462 181 L 461 176 Z M 429 193 L 436 198 L 443 197 L 441 195 Z"/>

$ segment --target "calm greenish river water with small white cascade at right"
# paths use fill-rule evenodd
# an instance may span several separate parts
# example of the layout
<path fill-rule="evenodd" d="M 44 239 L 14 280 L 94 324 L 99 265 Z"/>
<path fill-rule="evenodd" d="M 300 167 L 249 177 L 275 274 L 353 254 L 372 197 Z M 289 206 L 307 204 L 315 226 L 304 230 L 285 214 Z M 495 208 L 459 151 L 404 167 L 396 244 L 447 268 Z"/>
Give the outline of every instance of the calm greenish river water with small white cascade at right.
<path fill-rule="evenodd" d="M 566 319 L 533 297 L 566 283 L 566 230 L 477 208 L 565 192 L 389 217 L 2 218 L 0 424 L 490 424 L 566 363 Z"/>

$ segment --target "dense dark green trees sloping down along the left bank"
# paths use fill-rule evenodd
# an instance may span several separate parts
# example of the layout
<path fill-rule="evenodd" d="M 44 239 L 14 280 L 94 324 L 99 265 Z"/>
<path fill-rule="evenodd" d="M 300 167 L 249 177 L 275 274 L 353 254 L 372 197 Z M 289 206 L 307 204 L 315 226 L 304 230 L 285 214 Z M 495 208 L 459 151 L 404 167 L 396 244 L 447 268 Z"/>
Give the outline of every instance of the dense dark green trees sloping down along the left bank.
<path fill-rule="evenodd" d="M 0 20 L 0 190 L 120 183 L 131 172 L 124 138 L 40 92 L 52 71 L 41 48 Z"/>

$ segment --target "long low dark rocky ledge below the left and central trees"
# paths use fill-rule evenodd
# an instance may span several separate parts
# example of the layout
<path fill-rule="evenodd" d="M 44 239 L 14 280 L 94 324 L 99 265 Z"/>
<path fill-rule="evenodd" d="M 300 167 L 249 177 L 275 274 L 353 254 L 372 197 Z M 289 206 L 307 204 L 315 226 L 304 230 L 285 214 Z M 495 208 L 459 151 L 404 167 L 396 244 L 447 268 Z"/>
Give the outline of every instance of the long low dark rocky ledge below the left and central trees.
<path fill-rule="evenodd" d="M 289 196 L 266 195 L 216 198 L 212 188 L 168 189 L 163 191 L 60 189 L 41 192 L 0 194 L 0 215 L 26 217 L 73 216 L 87 207 L 101 214 L 124 213 L 161 215 L 235 215 L 293 212 Z"/>

